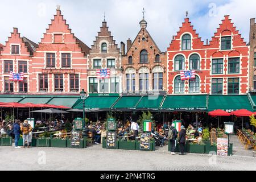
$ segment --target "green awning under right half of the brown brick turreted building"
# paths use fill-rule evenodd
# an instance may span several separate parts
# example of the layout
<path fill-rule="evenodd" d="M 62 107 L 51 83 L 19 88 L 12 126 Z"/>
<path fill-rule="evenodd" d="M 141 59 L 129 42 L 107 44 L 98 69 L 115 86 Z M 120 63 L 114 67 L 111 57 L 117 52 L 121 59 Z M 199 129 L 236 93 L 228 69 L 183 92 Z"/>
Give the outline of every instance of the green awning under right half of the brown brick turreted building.
<path fill-rule="evenodd" d="M 136 109 L 157 110 L 163 100 L 163 96 L 143 96 Z"/>

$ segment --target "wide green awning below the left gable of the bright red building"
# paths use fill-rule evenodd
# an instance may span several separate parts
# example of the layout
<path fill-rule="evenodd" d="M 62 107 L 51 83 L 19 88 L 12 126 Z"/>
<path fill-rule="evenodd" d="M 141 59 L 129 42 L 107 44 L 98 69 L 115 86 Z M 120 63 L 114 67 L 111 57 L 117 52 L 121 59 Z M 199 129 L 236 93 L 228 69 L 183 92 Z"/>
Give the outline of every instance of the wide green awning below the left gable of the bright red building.
<path fill-rule="evenodd" d="M 161 109 L 164 110 L 207 110 L 207 95 L 167 96 Z"/>

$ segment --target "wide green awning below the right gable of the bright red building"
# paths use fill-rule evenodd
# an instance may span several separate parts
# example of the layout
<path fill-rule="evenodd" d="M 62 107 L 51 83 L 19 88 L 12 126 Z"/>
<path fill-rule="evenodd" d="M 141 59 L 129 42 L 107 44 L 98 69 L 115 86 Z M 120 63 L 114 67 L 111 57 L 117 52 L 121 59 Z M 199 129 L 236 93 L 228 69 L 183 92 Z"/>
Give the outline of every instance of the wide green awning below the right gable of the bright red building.
<path fill-rule="evenodd" d="M 240 96 L 209 96 L 208 110 L 222 109 L 226 111 L 247 109 L 253 111 L 247 95 Z"/>

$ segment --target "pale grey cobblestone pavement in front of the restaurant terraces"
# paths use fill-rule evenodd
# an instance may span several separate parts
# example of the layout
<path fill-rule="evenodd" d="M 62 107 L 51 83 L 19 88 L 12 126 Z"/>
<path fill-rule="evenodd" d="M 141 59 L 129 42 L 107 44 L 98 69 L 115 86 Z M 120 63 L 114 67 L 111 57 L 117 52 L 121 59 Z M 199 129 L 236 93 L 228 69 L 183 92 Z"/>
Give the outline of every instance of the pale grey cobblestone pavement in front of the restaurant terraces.
<path fill-rule="evenodd" d="M 0 170 L 256 170 L 252 155 L 179 156 L 171 155 L 167 146 L 155 151 L 108 150 L 101 144 L 88 148 L 0 146 L 0 154 Z"/>

